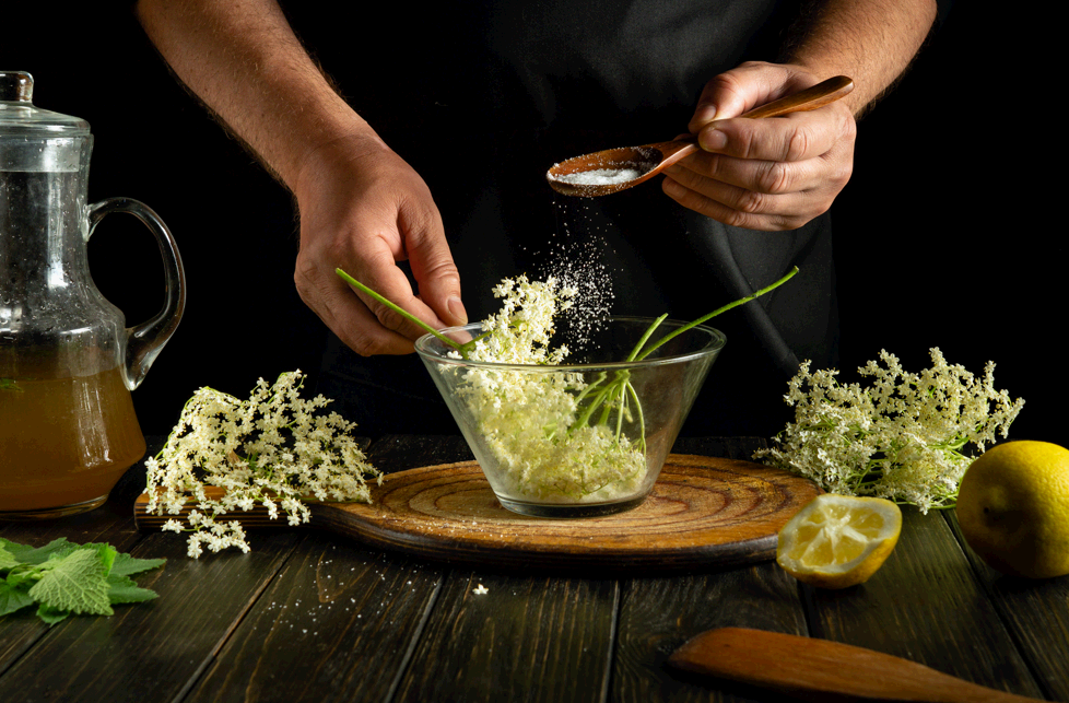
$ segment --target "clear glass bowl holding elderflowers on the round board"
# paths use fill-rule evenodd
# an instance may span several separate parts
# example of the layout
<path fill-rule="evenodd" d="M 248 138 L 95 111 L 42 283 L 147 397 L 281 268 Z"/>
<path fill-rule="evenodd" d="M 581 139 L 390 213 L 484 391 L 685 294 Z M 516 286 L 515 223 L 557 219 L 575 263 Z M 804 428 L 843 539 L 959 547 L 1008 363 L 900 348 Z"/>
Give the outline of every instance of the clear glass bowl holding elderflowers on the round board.
<path fill-rule="evenodd" d="M 609 515 L 649 495 L 726 342 L 697 326 L 643 361 L 619 361 L 653 321 L 609 318 L 591 332 L 582 363 L 567 365 L 466 361 L 433 335 L 415 350 L 504 507 L 539 517 Z M 685 324 L 665 320 L 650 342 Z M 463 343 L 481 331 L 472 324 L 443 333 Z"/>

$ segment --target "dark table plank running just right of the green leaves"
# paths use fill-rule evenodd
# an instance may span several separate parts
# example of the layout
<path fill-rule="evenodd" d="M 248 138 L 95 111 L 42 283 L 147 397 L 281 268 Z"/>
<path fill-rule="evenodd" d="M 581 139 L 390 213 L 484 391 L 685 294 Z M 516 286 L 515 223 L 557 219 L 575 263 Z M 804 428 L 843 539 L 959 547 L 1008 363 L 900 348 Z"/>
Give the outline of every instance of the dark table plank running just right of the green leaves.
<path fill-rule="evenodd" d="M 0 677 L 0 701 L 179 699 L 295 541 L 290 532 L 258 536 L 249 554 L 231 550 L 192 560 L 180 537 L 146 537 L 131 553 L 167 559 L 139 578 L 160 598 L 120 606 L 110 618 L 70 618 L 56 625 Z"/>

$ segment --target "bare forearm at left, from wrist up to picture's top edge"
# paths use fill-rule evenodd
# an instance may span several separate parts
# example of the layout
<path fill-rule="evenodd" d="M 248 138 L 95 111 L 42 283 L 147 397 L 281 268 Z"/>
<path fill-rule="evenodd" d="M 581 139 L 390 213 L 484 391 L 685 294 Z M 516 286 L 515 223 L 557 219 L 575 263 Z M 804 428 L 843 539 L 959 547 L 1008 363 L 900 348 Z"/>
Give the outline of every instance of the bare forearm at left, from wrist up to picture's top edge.
<path fill-rule="evenodd" d="M 331 89 L 274 0 L 139 0 L 178 78 L 287 187 L 330 141 L 374 131 Z"/>

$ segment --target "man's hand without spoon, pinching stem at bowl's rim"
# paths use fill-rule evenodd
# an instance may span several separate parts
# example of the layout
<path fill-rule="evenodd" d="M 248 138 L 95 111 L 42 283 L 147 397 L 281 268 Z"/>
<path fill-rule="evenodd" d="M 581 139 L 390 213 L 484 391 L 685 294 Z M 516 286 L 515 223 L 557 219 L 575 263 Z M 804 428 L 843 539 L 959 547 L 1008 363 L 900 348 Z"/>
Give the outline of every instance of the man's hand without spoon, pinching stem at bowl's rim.
<path fill-rule="evenodd" d="M 431 192 L 376 137 L 340 139 L 316 150 L 302 166 L 294 194 L 301 214 L 297 292 L 351 349 L 365 356 L 409 353 L 423 330 L 357 294 L 336 268 L 432 327 L 468 321 Z M 418 296 L 397 266 L 406 259 Z"/>

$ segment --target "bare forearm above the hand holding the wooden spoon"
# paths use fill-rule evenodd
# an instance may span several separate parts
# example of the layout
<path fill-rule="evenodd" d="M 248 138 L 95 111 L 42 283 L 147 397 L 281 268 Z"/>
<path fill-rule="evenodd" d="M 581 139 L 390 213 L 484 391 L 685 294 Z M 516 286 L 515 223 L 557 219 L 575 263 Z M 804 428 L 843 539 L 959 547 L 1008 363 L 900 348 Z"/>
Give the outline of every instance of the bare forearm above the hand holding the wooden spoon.
<path fill-rule="evenodd" d="M 784 60 L 819 78 L 853 78 L 854 92 L 844 101 L 858 115 L 906 70 L 935 19 L 935 0 L 818 2 L 799 23 Z"/>

